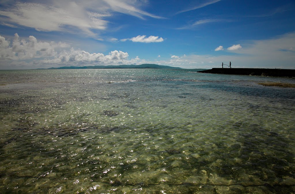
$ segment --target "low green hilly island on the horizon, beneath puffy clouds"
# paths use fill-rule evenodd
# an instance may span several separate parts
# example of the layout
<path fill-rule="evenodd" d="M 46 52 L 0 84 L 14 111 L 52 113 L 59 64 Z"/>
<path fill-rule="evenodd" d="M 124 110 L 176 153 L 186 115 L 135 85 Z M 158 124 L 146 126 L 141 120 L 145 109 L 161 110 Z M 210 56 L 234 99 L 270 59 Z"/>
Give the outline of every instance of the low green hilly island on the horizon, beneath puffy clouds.
<path fill-rule="evenodd" d="M 141 64 L 141 65 L 94 65 L 94 66 L 65 66 L 51 67 L 48 69 L 182 69 L 180 67 L 171 67 L 157 64 Z"/>

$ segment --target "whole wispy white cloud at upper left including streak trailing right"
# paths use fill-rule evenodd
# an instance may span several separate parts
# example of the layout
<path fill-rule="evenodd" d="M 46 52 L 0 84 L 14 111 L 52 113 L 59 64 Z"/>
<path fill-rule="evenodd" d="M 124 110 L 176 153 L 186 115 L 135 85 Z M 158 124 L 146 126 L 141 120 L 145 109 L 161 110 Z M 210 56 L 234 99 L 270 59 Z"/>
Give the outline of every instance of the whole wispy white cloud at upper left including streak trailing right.
<path fill-rule="evenodd" d="M 138 9 L 140 4 L 129 0 L 97 1 L 43 1 L 42 3 L 22 3 L 0 10 L 0 24 L 35 28 L 38 31 L 83 32 L 96 37 L 93 30 L 105 30 L 107 17 L 112 12 L 120 12 L 144 19 L 144 16 L 161 18 Z"/>

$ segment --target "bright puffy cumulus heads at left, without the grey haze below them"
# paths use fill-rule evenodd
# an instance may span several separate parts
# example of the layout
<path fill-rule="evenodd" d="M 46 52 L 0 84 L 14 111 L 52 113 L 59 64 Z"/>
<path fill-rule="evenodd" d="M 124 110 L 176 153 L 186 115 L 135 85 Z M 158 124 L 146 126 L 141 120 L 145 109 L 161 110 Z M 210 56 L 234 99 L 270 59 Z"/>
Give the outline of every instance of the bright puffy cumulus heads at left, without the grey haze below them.
<path fill-rule="evenodd" d="M 66 48 L 69 45 L 65 43 L 55 43 L 55 42 L 42 42 L 37 41 L 34 36 L 29 36 L 27 39 L 20 39 L 19 35 L 14 34 L 14 39 L 12 44 L 7 41 L 4 37 L 0 35 L 0 53 L 1 59 L 14 59 L 14 60 L 24 60 L 24 59 L 34 59 L 41 57 L 52 57 L 54 62 L 106 62 L 108 60 L 122 60 L 127 59 L 128 53 L 122 51 L 111 51 L 109 55 L 104 55 L 101 53 L 88 53 L 86 51 L 74 50 L 70 51 L 60 51 L 59 53 L 55 51 L 56 48 Z M 49 62 L 50 60 L 47 60 Z"/>

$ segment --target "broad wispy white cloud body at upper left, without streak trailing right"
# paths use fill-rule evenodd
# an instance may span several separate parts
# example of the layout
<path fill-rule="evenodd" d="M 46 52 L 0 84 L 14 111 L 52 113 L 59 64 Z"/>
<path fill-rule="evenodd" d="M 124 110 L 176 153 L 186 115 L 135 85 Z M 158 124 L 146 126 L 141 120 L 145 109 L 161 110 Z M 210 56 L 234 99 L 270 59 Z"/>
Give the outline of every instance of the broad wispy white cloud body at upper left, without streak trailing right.
<path fill-rule="evenodd" d="M 12 10 L 0 11 L 6 16 L 7 23 L 18 24 L 35 28 L 38 31 L 67 31 L 77 30 L 89 36 L 95 36 L 91 29 L 104 30 L 106 21 L 99 18 L 90 18 L 76 3 L 68 4 L 68 10 L 58 7 L 46 6 L 37 3 L 17 3 Z M 72 29 L 69 30 L 68 27 Z"/>

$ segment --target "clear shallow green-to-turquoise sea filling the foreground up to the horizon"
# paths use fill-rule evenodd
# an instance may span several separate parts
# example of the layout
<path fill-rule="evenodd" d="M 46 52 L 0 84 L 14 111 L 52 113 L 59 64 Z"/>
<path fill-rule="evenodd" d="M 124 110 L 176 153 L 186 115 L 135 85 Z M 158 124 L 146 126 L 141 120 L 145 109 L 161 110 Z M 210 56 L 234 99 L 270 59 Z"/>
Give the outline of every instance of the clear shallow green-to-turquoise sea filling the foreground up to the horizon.
<path fill-rule="evenodd" d="M 0 71 L 0 193 L 292 193 L 292 78 Z"/>

